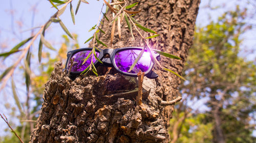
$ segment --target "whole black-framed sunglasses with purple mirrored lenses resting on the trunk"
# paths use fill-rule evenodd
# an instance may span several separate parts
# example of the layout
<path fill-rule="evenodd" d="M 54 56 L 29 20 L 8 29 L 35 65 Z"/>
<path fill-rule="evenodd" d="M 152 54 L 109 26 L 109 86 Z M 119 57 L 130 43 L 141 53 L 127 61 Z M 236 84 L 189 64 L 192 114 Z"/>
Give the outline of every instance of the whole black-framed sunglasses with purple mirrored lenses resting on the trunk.
<path fill-rule="evenodd" d="M 92 51 L 91 47 L 77 49 L 68 52 L 65 68 L 71 74 L 78 75 L 81 74 L 82 71 L 88 66 L 90 66 L 91 61 L 93 61 L 96 68 L 99 65 L 114 67 L 119 73 L 131 77 L 136 77 L 141 70 L 145 73 L 147 78 L 155 79 L 158 77 L 158 75 L 152 71 L 154 63 L 151 59 L 150 53 L 146 50 L 144 50 L 142 57 L 134 66 L 134 68 L 129 71 L 131 65 L 134 63 L 135 59 L 139 56 L 142 50 L 143 47 L 95 49 L 97 58 L 102 62 L 100 63 L 94 56 L 90 56 L 87 61 L 84 62 L 84 59 L 86 59 L 86 57 Z M 105 58 L 107 54 L 110 55 L 110 58 Z M 152 54 L 154 57 L 156 57 L 157 60 L 159 60 L 160 56 L 158 53 L 152 51 Z"/>

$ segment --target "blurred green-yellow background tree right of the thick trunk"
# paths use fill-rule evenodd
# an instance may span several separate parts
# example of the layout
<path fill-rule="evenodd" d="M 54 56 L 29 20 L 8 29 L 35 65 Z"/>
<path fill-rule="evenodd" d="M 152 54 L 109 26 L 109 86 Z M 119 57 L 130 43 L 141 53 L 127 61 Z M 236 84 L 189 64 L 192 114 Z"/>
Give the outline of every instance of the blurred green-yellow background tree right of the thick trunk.
<path fill-rule="evenodd" d="M 171 121 L 172 142 L 255 142 L 255 63 L 239 57 L 246 9 L 198 28 Z M 198 104 L 198 106 L 196 106 Z"/>

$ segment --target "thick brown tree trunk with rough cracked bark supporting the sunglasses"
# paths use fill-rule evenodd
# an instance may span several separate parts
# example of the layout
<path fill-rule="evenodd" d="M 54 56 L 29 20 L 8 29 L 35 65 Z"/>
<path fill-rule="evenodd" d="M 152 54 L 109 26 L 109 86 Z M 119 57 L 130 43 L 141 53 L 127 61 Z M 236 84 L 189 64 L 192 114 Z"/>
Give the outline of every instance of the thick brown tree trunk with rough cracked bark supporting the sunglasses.
<path fill-rule="evenodd" d="M 128 1 L 133 4 L 137 1 Z M 200 0 L 139 1 L 135 18 L 160 36 L 149 40 L 153 49 L 174 54 L 182 60 L 161 57 L 163 67 L 181 74 L 187 52 L 193 43 L 195 20 Z M 111 13 L 107 14 L 111 17 Z M 110 45 L 111 24 L 100 26 L 107 34 L 99 39 Z M 134 31 L 135 41 L 123 21 L 122 38 L 116 32 L 115 47 L 143 46 Z M 144 37 L 149 34 L 144 33 Z M 91 43 L 92 44 L 92 43 Z M 115 48 L 113 47 L 113 48 Z M 179 95 L 180 79 L 167 71 L 155 70 L 155 80 L 144 77 L 143 106 L 136 106 L 138 81 L 115 73 L 96 77 L 79 76 L 72 81 L 56 63 L 46 83 L 42 111 L 31 135 L 31 142 L 168 142 L 167 128 L 173 106 L 162 101 Z"/>

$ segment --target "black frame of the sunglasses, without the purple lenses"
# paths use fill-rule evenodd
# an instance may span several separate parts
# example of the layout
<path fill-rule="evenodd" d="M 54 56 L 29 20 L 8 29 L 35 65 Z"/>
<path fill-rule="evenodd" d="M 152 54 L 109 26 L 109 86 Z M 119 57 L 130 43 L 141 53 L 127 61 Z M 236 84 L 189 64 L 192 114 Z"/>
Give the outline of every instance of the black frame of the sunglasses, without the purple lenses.
<path fill-rule="evenodd" d="M 67 61 L 66 61 L 66 65 L 65 65 L 65 69 L 67 69 L 67 66 L 68 66 L 68 63 L 69 63 L 69 60 L 78 52 L 81 52 L 81 51 L 92 51 L 92 47 L 84 47 L 84 48 L 81 48 L 81 49 L 76 49 L 76 50 L 73 50 L 73 51 L 70 51 L 68 52 L 67 54 Z M 121 47 L 121 48 L 118 48 L 118 49 L 95 49 L 96 52 L 99 53 L 99 56 L 98 58 L 102 61 L 102 63 L 100 63 L 98 60 L 96 60 L 94 62 L 94 65 L 95 67 L 97 67 L 98 65 L 104 65 L 104 66 L 110 66 L 110 67 L 114 67 L 119 73 L 123 74 L 123 75 L 126 75 L 126 76 L 131 76 L 131 77 L 137 77 L 137 74 L 133 74 L 133 73 L 126 73 L 122 70 L 120 70 L 117 66 L 116 66 L 116 63 L 114 62 L 115 61 L 115 55 L 116 53 L 118 52 L 121 52 L 121 51 L 126 51 L 126 50 L 142 50 L 143 47 Z M 145 50 L 146 51 L 146 50 Z M 106 54 L 109 54 L 110 55 L 110 58 L 103 58 Z M 160 54 L 158 53 L 155 53 L 153 51 L 153 56 L 157 58 L 157 60 L 159 60 L 160 58 Z M 86 58 L 86 57 L 84 57 Z M 150 79 L 155 79 L 158 77 L 158 75 L 152 71 L 152 68 L 154 66 L 154 63 L 152 62 L 152 64 L 150 65 L 150 67 L 148 68 L 147 71 L 145 71 L 145 76 L 147 78 L 150 78 Z M 79 75 L 82 73 L 82 71 L 70 71 L 71 74 L 73 75 Z"/>

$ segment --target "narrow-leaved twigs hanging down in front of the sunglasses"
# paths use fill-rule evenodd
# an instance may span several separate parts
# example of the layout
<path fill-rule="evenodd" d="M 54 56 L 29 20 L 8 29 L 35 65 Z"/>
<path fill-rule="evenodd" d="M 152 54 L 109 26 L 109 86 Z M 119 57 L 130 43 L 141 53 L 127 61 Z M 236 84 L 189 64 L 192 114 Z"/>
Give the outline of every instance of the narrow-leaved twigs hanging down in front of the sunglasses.
<path fill-rule="evenodd" d="M 155 37 L 157 37 L 157 36 L 160 36 L 160 34 L 157 34 L 157 32 L 155 32 L 155 31 L 153 31 L 153 30 L 151 30 L 151 29 L 148 29 L 148 28 L 146 28 L 146 27 L 143 27 L 135 18 L 133 18 L 133 16 L 136 15 L 137 13 L 141 12 L 141 10 L 139 10 L 139 11 L 129 11 L 129 10 L 126 10 L 126 9 L 130 9 L 130 8 L 136 6 L 136 5 L 138 4 L 138 2 L 137 2 L 137 3 L 134 3 L 134 4 L 132 4 L 132 5 L 126 6 L 127 3 L 126 3 L 125 0 L 124 0 L 124 1 L 121 1 L 121 2 L 114 0 L 113 3 L 106 2 L 105 0 L 103 0 L 103 1 L 104 1 L 105 5 L 107 6 L 107 8 L 110 9 L 110 10 L 112 11 L 112 14 L 113 14 L 113 18 L 112 18 L 112 20 L 111 20 L 111 23 L 112 23 L 112 30 L 111 30 L 111 38 L 110 38 L 110 47 L 112 47 L 113 38 L 114 38 L 114 32 L 115 32 L 115 27 L 116 27 L 116 22 L 115 22 L 115 21 L 117 21 L 117 31 L 118 31 L 118 36 L 119 36 L 119 38 L 121 38 L 121 23 L 122 23 L 122 20 L 123 20 L 123 19 L 125 19 L 125 21 L 126 21 L 126 24 L 127 24 L 128 28 L 129 28 L 129 30 L 130 30 L 130 32 L 131 32 L 131 35 L 132 35 L 132 37 L 133 37 L 133 40 L 135 40 L 135 38 L 134 38 L 134 35 L 133 35 L 132 26 L 135 28 L 135 30 L 138 32 L 138 34 L 139 34 L 140 37 L 142 38 L 142 41 L 143 41 L 143 44 L 144 44 L 143 50 L 140 52 L 140 54 L 138 55 L 138 57 L 135 59 L 134 63 L 131 65 L 131 67 L 130 67 L 130 69 L 129 69 L 129 72 L 130 72 L 130 71 L 135 67 L 135 65 L 138 63 L 138 61 L 139 61 L 140 58 L 142 57 L 144 51 L 147 50 L 147 51 L 150 53 L 150 56 L 151 56 L 151 59 L 152 59 L 153 63 L 155 64 L 155 68 L 157 68 L 157 66 L 159 66 L 161 69 L 170 71 L 171 73 L 173 73 L 173 74 L 177 75 L 178 77 L 180 77 L 181 79 L 185 80 L 182 76 L 180 76 L 179 74 L 175 73 L 173 70 L 170 70 L 170 69 L 167 69 L 167 68 L 163 68 L 163 67 L 160 65 L 160 63 L 158 62 L 158 60 L 156 59 L 156 57 L 153 56 L 152 52 L 154 51 L 154 52 L 156 52 L 156 53 L 158 53 L 158 54 L 160 54 L 160 55 L 162 55 L 162 56 L 168 57 L 168 58 L 181 59 L 180 57 L 177 57 L 177 56 L 175 56 L 175 55 L 171 55 L 171 54 L 168 54 L 168 53 L 164 53 L 164 52 L 161 52 L 161 51 L 158 51 L 158 50 L 152 50 L 152 49 L 151 49 L 151 47 L 148 45 L 148 42 L 146 41 L 146 39 L 155 38 Z M 108 9 L 106 10 L 106 12 L 108 11 Z M 106 13 L 106 12 L 105 12 L 105 13 Z M 102 12 L 102 9 L 101 9 L 101 13 L 103 13 L 103 12 Z M 103 13 L 104 18 L 105 18 L 106 20 L 110 21 L 109 18 L 106 16 L 105 13 Z M 132 15 L 130 15 L 130 14 L 132 14 Z M 132 25 L 131 25 L 131 23 L 132 23 Z M 108 47 L 106 44 L 104 44 L 102 41 L 100 41 L 100 40 L 98 39 L 98 37 L 97 37 L 97 33 L 98 33 L 98 32 L 102 32 L 103 34 L 105 34 L 105 32 L 104 32 L 102 29 L 99 28 L 99 25 L 98 25 L 98 24 L 99 24 L 99 20 L 98 20 L 97 25 L 93 26 L 93 27 L 89 30 L 89 32 L 90 32 L 90 31 L 96 29 L 96 32 L 94 33 L 94 35 L 93 35 L 92 37 L 90 37 L 88 40 L 86 40 L 86 42 L 84 42 L 84 43 L 87 43 L 88 41 L 90 41 L 90 40 L 93 38 L 93 50 L 92 50 L 92 51 L 93 51 L 94 54 L 92 55 L 92 52 L 91 52 L 91 53 L 89 53 L 89 55 L 84 59 L 83 63 L 85 63 L 85 62 L 88 60 L 88 58 L 91 57 L 91 63 L 90 63 L 90 65 L 89 65 L 86 69 L 84 69 L 84 70 L 82 71 L 81 74 L 88 73 L 88 71 L 92 69 L 93 73 L 97 76 L 96 68 L 95 68 L 95 66 L 93 65 L 93 64 L 94 64 L 94 63 L 93 63 L 93 56 L 94 56 L 100 63 L 102 63 L 102 62 L 97 58 L 97 56 L 96 56 L 96 54 L 95 54 L 95 48 L 96 48 L 96 47 L 95 47 L 95 39 L 96 39 L 96 41 L 97 41 L 98 44 L 102 44 L 103 46 Z M 141 30 L 143 30 L 144 32 L 153 33 L 153 34 L 155 34 L 155 35 L 145 38 L 145 37 L 140 33 L 140 31 L 138 30 L 138 28 L 141 29 Z M 92 68 L 92 67 L 93 67 L 93 68 Z"/>

